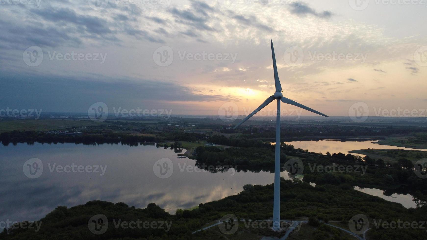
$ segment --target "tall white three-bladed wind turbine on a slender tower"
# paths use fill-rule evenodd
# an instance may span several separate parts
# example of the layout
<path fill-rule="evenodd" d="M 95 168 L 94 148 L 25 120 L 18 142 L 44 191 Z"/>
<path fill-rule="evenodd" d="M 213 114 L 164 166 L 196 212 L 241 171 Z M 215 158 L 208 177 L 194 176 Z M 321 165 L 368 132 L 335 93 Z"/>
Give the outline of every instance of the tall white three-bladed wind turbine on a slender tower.
<path fill-rule="evenodd" d="M 274 70 L 274 83 L 276 86 L 276 92 L 274 95 L 271 95 L 267 98 L 266 101 L 263 102 L 257 109 L 255 109 L 251 114 L 246 116 L 245 119 L 243 119 L 239 124 L 236 125 L 236 127 L 239 127 L 242 123 L 244 123 L 246 120 L 250 119 L 252 116 L 254 116 L 255 113 L 259 112 L 261 109 L 263 109 L 265 106 L 267 106 L 269 103 L 271 103 L 273 100 L 277 100 L 277 112 L 276 112 L 276 149 L 275 149 L 275 165 L 274 165 L 274 203 L 273 203 L 273 231 L 281 231 L 280 228 L 280 101 L 291 104 L 297 107 L 301 107 L 302 109 L 308 110 L 313 113 L 317 113 L 319 115 L 326 116 L 323 113 L 320 113 L 316 110 L 311 109 L 310 107 L 306 107 L 302 104 L 297 103 L 296 101 L 293 101 L 289 98 L 285 98 L 283 96 L 282 92 L 282 86 L 280 84 L 279 75 L 277 73 L 277 66 L 276 66 L 276 57 L 274 55 L 274 48 L 273 48 L 273 41 L 271 41 L 271 54 L 273 57 L 273 70 Z M 233 129 L 236 129 L 234 127 Z"/>

